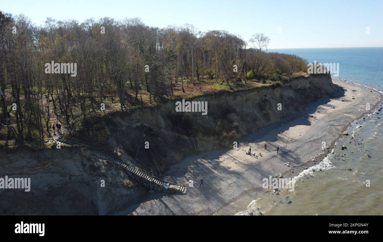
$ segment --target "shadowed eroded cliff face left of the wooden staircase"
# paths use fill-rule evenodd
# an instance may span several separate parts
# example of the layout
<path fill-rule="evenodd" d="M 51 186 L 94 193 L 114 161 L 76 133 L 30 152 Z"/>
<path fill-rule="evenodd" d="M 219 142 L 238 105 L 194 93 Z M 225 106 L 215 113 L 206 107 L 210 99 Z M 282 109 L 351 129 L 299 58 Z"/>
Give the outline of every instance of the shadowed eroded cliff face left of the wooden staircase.
<path fill-rule="evenodd" d="M 84 147 L 0 150 L 0 177 L 30 178 L 30 191 L 0 189 L 0 214 L 103 215 L 131 203 L 146 188 Z M 101 187 L 105 180 L 105 187 Z"/>

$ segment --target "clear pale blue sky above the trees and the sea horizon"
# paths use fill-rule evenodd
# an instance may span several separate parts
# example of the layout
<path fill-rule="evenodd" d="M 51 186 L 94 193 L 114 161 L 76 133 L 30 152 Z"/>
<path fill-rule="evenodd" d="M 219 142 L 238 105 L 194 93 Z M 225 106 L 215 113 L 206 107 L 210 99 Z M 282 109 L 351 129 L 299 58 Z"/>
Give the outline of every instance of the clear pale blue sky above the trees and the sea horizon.
<path fill-rule="evenodd" d="M 23 13 L 37 25 L 46 17 L 83 21 L 108 16 L 139 17 L 157 27 L 188 23 L 201 31 L 224 29 L 246 41 L 259 32 L 271 38 L 269 49 L 383 46 L 382 0 L 2 0 L 0 10 Z"/>

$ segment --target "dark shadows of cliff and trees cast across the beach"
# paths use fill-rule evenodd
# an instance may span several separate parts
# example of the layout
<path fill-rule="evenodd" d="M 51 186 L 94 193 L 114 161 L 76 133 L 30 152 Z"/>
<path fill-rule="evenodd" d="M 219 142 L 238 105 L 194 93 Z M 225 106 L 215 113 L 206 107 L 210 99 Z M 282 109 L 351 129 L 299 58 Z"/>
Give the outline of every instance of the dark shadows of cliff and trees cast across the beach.
<path fill-rule="evenodd" d="M 339 98 L 344 96 L 345 89 L 342 87 L 337 86 L 338 92 L 332 96 L 331 98 Z M 279 147 L 279 153 L 277 154 L 277 146 L 273 144 L 273 142 L 276 142 L 278 139 L 281 139 L 280 133 L 288 130 L 289 128 L 293 126 L 284 125 L 282 126 L 281 123 L 287 123 L 288 121 L 296 120 L 294 122 L 295 125 L 305 125 L 309 126 L 311 125 L 310 120 L 316 119 L 315 115 L 313 115 L 313 110 L 319 110 L 323 111 L 322 108 L 319 108 L 319 106 L 324 105 L 326 106 L 326 103 L 330 101 L 330 98 L 321 98 L 313 103 L 310 103 L 306 106 L 304 110 L 298 111 L 294 114 L 291 114 L 291 116 L 283 119 L 280 123 L 275 123 L 270 126 L 264 127 L 253 134 L 250 134 L 249 136 L 242 139 L 241 143 L 251 142 L 251 143 L 258 143 L 258 142 L 265 142 L 268 146 L 268 152 L 275 152 L 275 155 L 280 155 L 283 157 L 283 160 L 285 162 L 290 162 L 291 166 L 300 164 L 300 157 L 294 152 L 294 151 L 287 151 L 284 149 L 284 147 Z M 329 106 L 329 105 L 328 105 Z M 335 108 L 337 108 L 335 106 Z M 313 117 L 312 117 L 312 116 Z M 273 130 L 278 129 L 278 132 L 270 132 Z M 272 134 L 270 136 L 270 134 Z M 265 140 L 264 136 L 267 136 L 267 140 Z M 289 137 L 282 137 L 282 142 L 290 141 L 291 138 Z M 246 147 L 246 150 L 249 147 Z M 263 147 L 262 147 L 263 148 Z M 262 149 L 261 152 L 264 152 L 265 150 Z M 262 165 L 259 163 L 257 164 L 245 164 L 241 162 L 240 160 L 232 157 L 231 155 L 227 154 L 228 149 L 221 149 L 221 150 L 211 150 L 209 151 L 209 157 L 211 159 L 205 159 L 205 153 L 202 152 L 200 154 L 194 155 L 193 157 L 188 157 L 187 159 L 183 160 L 182 162 L 173 165 L 170 170 L 165 174 L 168 175 L 167 177 L 169 180 L 172 180 L 174 178 L 174 175 L 178 177 L 178 180 L 174 180 L 173 182 L 178 184 L 189 184 L 189 181 L 193 181 L 193 187 L 198 188 L 200 186 L 200 178 L 198 173 L 203 171 L 203 180 L 204 180 L 204 188 L 198 188 L 198 190 L 193 189 L 192 192 L 189 192 L 191 194 L 187 196 L 183 196 L 181 194 L 167 194 L 167 193 L 160 193 L 160 192 L 154 192 L 150 195 L 147 195 L 146 197 L 142 198 L 139 203 L 136 203 L 132 206 L 130 206 L 129 209 L 127 209 L 125 212 L 132 214 L 140 214 L 140 210 L 136 211 L 137 208 L 144 209 L 147 211 L 153 211 L 155 214 L 155 211 L 164 211 L 166 209 L 167 214 L 198 214 L 193 213 L 190 211 L 185 210 L 185 203 L 181 204 L 181 201 L 184 201 L 184 199 L 188 199 L 188 196 L 202 196 L 206 200 L 209 201 L 209 204 L 220 204 L 219 207 L 225 206 L 228 203 L 231 203 L 232 201 L 235 201 L 236 198 L 230 199 L 230 201 L 226 201 L 222 194 L 220 193 L 220 190 L 222 188 L 212 188 L 211 186 L 214 186 L 214 184 L 209 184 L 209 181 L 211 180 L 226 180 L 229 178 L 237 178 L 238 180 L 241 180 L 242 183 L 248 184 L 248 190 L 254 190 L 254 181 L 250 180 L 248 176 L 245 176 L 242 172 L 237 170 L 232 170 L 230 167 L 224 167 L 220 163 L 220 159 L 222 159 L 223 156 L 227 156 L 227 159 L 231 159 L 232 162 L 241 164 L 243 167 L 249 167 L 249 168 L 256 168 L 257 171 L 257 177 L 268 177 L 270 175 L 270 170 L 265 170 Z M 256 153 L 257 154 L 257 153 Z M 249 159 L 253 159 L 252 157 L 249 157 Z M 258 159 L 258 158 L 257 158 Z M 254 159 L 255 161 L 255 159 Z M 182 163 L 182 164 L 181 164 Z M 188 167 L 188 168 L 184 168 Z M 217 177 L 217 173 L 220 174 L 219 177 Z M 243 182 L 244 181 L 244 182 Z M 233 184 L 237 185 L 237 184 Z M 164 201 L 163 196 L 168 196 L 169 199 Z M 171 199 L 171 201 L 170 201 Z M 185 201 L 184 201 L 185 202 Z M 171 203 L 172 208 L 169 207 L 169 203 Z M 181 206 L 182 205 L 182 206 Z M 212 206 L 214 207 L 214 206 Z M 149 210 L 147 210 L 149 209 Z M 216 208 L 211 209 L 210 206 L 206 206 L 204 208 L 204 214 L 206 213 L 214 213 L 216 211 Z"/>

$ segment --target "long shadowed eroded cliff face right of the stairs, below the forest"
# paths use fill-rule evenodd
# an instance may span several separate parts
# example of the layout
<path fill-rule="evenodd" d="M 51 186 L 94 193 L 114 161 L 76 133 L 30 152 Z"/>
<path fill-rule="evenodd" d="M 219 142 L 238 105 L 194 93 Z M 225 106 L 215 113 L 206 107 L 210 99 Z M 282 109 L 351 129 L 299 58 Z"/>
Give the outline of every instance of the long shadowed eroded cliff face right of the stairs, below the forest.
<path fill-rule="evenodd" d="M 278 87 L 262 87 L 239 92 L 223 92 L 187 101 L 207 101 L 208 113 L 176 112 L 171 100 L 155 108 L 137 108 L 108 118 L 113 139 L 133 157 L 150 160 L 144 149 L 150 144 L 160 169 L 204 150 L 231 147 L 260 128 L 281 121 L 319 98 L 331 97 L 338 88 L 330 74 L 293 78 Z M 282 110 L 278 110 L 278 103 Z M 140 151 L 141 150 L 141 151 Z"/>

